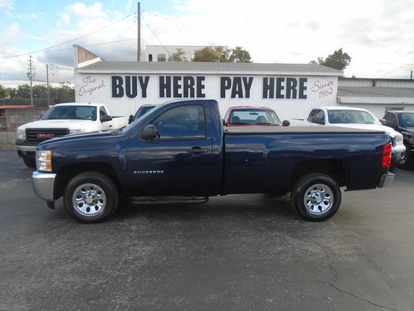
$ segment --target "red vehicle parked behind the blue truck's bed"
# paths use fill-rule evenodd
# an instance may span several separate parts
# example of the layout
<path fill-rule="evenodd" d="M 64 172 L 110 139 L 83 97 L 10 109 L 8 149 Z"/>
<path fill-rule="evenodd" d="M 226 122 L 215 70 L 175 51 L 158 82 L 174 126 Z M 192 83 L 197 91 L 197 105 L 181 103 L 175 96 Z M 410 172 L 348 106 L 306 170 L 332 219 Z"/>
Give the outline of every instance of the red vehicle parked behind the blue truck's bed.
<path fill-rule="evenodd" d="M 280 122 L 276 112 L 267 107 L 230 107 L 223 119 L 224 126 L 289 126 Z"/>

